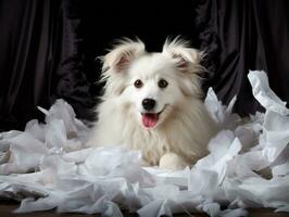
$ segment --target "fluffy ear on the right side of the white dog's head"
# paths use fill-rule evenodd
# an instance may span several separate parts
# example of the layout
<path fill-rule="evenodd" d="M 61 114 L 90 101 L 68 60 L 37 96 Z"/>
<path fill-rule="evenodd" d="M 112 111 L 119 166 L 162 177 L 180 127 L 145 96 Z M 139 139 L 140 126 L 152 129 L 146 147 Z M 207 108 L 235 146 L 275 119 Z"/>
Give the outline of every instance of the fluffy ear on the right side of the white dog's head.
<path fill-rule="evenodd" d="M 174 40 L 167 39 L 163 47 L 163 54 L 172 58 L 177 68 L 181 72 L 200 73 L 203 68 L 200 65 L 204 53 L 189 48 L 189 41 L 183 40 L 179 37 Z"/>

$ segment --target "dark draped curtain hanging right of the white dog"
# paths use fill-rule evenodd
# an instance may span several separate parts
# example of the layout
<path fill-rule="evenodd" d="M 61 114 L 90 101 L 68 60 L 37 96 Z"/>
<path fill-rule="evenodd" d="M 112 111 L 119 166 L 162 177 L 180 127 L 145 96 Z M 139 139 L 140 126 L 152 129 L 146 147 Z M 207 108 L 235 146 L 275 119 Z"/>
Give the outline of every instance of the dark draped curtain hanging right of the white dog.
<path fill-rule="evenodd" d="M 289 2 L 286 0 L 197 0 L 199 44 L 224 103 L 238 94 L 235 112 L 262 111 L 247 78 L 249 69 L 267 72 L 272 89 L 289 102 Z"/>

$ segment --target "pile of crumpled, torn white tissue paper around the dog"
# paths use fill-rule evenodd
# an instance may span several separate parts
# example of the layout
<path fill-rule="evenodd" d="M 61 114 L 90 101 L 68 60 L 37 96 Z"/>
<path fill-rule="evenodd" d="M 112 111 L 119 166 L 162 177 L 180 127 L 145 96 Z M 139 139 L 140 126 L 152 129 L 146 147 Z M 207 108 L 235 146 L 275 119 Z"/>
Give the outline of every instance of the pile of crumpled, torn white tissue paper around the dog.
<path fill-rule="evenodd" d="M 86 146 L 89 128 L 58 100 L 46 122 L 0 133 L 0 197 L 21 201 L 14 212 L 56 208 L 141 217 L 204 212 L 246 216 L 248 207 L 289 212 L 289 110 L 269 88 L 264 72 L 249 73 L 255 99 L 265 107 L 249 118 L 231 114 L 209 89 L 205 106 L 223 127 L 210 154 L 179 171 L 141 167 L 140 152 Z M 261 171 L 267 170 L 269 178 Z M 260 173 L 259 173 L 260 171 Z"/>

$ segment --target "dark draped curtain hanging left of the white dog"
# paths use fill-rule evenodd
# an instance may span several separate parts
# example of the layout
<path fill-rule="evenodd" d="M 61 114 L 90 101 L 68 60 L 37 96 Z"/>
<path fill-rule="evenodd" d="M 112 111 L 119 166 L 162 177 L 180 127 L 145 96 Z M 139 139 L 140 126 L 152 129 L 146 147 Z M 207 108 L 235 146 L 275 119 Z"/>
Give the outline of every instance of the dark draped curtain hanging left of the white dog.
<path fill-rule="evenodd" d="M 84 73 L 78 9 L 73 1 L 0 1 L 0 129 L 41 119 L 37 105 L 58 98 L 88 117 L 93 105 Z"/>

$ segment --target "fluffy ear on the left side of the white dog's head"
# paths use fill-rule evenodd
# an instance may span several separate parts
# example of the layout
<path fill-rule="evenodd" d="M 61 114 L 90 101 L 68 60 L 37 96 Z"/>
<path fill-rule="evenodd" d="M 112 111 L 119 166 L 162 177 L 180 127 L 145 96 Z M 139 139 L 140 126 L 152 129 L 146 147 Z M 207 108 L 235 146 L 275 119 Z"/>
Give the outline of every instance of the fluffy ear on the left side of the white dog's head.
<path fill-rule="evenodd" d="M 139 39 L 133 41 L 130 39 L 124 39 L 118 41 L 104 58 L 102 58 L 103 72 L 121 73 L 127 68 L 127 66 L 137 56 L 146 52 L 144 44 Z"/>

